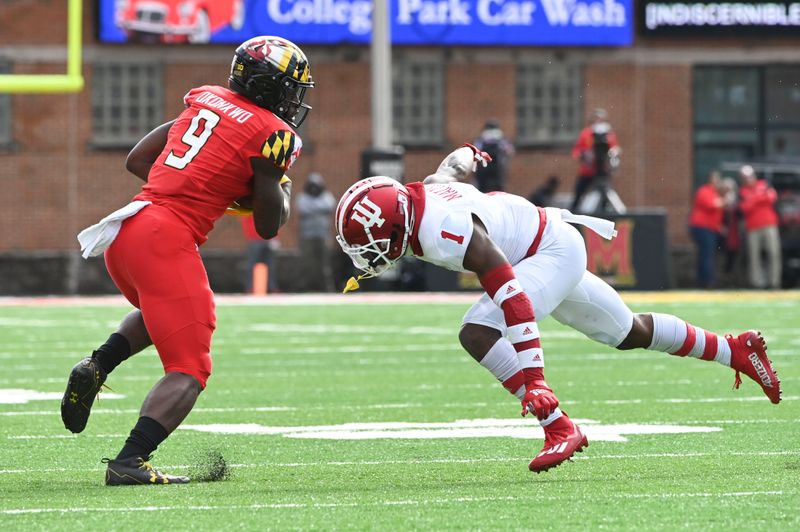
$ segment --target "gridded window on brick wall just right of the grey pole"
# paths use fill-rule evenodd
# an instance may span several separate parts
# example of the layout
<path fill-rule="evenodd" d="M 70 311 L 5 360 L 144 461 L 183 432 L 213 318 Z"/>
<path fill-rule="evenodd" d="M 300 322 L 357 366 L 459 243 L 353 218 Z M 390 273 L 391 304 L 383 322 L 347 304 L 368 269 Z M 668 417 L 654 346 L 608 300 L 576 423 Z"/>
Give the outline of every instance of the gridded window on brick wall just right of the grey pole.
<path fill-rule="evenodd" d="M 394 141 L 436 146 L 444 141 L 444 64 L 439 59 L 396 58 L 392 75 Z"/>

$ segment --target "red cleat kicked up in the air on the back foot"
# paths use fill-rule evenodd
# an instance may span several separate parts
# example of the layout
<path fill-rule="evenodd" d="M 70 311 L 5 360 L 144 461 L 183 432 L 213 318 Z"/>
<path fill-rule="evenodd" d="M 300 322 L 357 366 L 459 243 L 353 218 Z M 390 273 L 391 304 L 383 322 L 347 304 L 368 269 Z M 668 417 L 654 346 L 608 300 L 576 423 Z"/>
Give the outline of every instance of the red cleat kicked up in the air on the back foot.
<path fill-rule="evenodd" d="M 744 373 L 756 381 L 769 400 L 775 404 L 781 402 L 781 381 L 772 367 L 772 361 L 767 358 L 767 342 L 760 332 L 743 332 L 736 338 L 726 335 L 731 346 L 731 368 L 736 370 L 734 389 L 742 383 L 739 373 Z"/>

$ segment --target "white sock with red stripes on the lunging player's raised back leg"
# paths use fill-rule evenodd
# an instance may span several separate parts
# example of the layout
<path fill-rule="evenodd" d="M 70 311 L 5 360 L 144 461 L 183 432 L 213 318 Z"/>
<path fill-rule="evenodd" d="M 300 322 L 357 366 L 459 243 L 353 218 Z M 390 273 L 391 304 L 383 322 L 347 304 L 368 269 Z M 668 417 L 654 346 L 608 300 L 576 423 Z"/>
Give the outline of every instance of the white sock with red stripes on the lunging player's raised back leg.
<path fill-rule="evenodd" d="M 690 325 L 670 314 L 654 312 L 651 316 L 653 340 L 647 349 L 731 365 L 731 348 L 723 336 Z"/>

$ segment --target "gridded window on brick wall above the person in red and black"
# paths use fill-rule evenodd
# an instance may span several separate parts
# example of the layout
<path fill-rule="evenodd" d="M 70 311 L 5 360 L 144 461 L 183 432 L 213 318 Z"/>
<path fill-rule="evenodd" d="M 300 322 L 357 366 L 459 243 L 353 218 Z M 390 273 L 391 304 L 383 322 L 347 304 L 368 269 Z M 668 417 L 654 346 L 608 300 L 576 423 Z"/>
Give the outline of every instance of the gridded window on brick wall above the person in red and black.
<path fill-rule="evenodd" d="M 570 64 L 517 67 L 517 144 L 569 145 L 581 130 L 582 68 Z"/>

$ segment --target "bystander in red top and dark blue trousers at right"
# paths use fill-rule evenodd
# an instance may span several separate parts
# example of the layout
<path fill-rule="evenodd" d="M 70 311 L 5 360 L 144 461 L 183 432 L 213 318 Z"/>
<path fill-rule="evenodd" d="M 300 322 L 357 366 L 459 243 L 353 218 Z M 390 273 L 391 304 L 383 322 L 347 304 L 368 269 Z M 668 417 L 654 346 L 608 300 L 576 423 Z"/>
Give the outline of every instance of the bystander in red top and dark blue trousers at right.
<path fill-rule="evenodd" d="M 708 181 L 694 194 L 689 214 L 689 233 L 697 245 L 697 278 L 699 288 L 714 284 L 714 259 L 719 249 L 720 230 L 725 209 L 722 177 L 716 170 L 708 174 Z"/>

